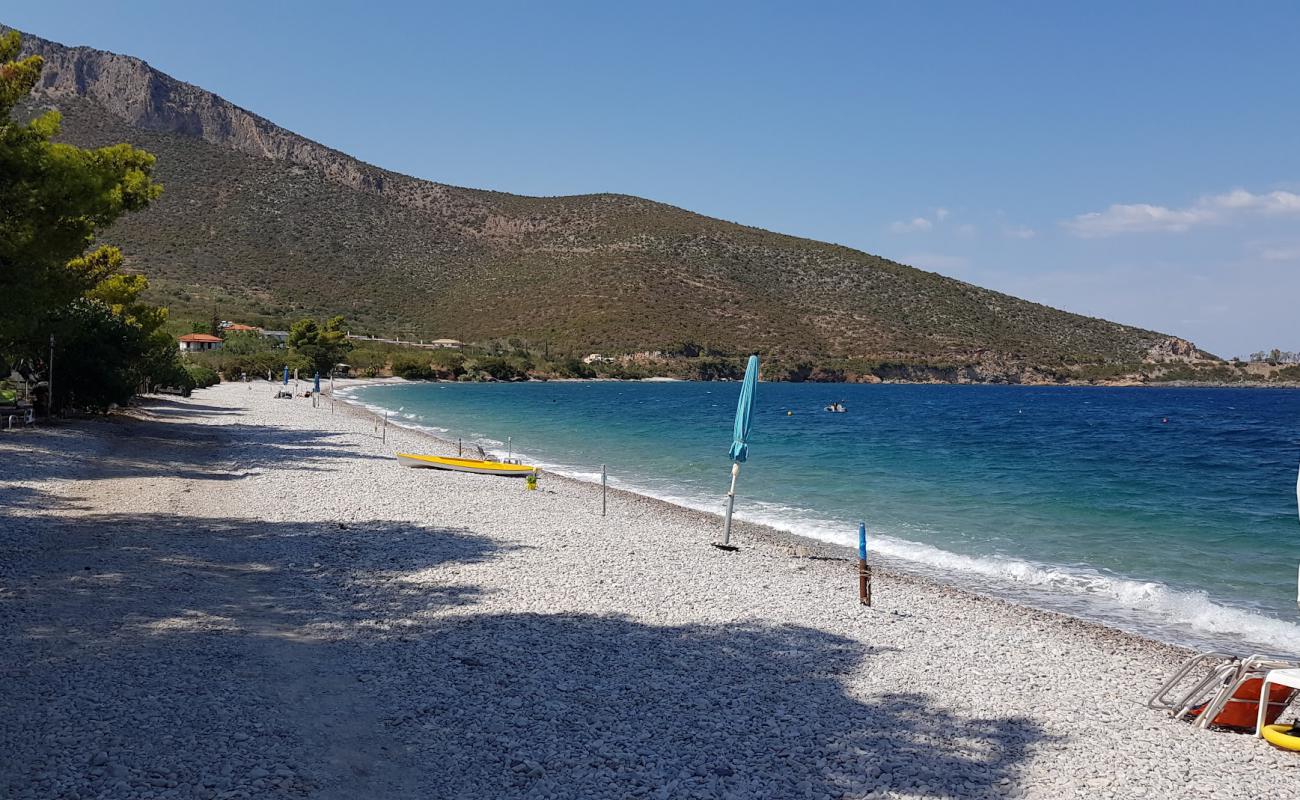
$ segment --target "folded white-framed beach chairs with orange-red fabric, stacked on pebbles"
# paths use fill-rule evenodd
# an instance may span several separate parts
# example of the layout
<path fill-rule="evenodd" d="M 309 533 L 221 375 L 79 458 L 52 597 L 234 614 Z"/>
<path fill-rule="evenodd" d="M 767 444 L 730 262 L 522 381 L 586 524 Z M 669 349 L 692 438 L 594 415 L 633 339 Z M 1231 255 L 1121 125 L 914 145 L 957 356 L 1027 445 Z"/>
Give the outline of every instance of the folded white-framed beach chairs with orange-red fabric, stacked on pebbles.
<path fill-rule="evenodd" d="M 1254 731 L 1258 719 L 1277 721 L 1295 700 L 1296 689 L 1269 687 L 1266 708 L 1260 692 L 1270 670 L 1300 667 L 1300 662 L 1275 656 L 1234 656 L 1210 650 L 1183 662 L 1174 675 L 1147 700 L 1147 706 L 1169 712 L 1199 728 Z"/>

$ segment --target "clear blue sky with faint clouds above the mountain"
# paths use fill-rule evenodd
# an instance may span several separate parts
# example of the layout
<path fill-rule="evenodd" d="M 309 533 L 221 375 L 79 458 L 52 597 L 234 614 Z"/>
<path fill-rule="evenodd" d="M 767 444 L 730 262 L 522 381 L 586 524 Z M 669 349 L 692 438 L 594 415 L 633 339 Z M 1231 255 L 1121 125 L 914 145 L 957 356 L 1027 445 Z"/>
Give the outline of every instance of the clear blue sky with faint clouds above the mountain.
<path fill-rule="evenodd" d="M 1300 350 L 1300 4 L 60 3 L 413 176 L 620 191 L 1221 355 Z"/>

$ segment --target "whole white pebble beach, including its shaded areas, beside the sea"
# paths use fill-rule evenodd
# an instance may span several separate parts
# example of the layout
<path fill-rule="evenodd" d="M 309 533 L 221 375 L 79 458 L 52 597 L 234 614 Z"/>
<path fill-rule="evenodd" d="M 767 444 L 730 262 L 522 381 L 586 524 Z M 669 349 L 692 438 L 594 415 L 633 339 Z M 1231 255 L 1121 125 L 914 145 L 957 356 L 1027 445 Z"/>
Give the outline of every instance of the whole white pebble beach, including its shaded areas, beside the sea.
<path fill-rule="evenodd" d="M 402 468 L 455 447 L 276 388 L 0 436 L 0 797 L 1300 787 L 1145 708 L 1179 648 L 896 572 L 864 607 L 848 550 Z"/>

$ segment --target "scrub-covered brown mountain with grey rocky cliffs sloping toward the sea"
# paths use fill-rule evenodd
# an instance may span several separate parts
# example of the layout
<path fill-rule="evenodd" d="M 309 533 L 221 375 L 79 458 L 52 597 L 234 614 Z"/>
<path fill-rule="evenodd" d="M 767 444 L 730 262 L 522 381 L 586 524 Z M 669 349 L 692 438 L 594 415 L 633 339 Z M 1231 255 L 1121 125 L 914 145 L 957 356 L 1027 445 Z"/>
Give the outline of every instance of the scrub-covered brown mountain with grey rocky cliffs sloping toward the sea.
<path fill-rule="evenodd" d="M 125 140 L 157 156 L 162 199 L 105 239 L 174 313 L 344 313 L 374 333 L 573 353 L 693 342 L 976 380 L 1213 358 L 1167 334 L 642 198 L 532 198 L 412 178 L 139 59 L 27 35 L 23 44 L 46 59 L 32 107 L 62 112 L 64 140 Z"/>

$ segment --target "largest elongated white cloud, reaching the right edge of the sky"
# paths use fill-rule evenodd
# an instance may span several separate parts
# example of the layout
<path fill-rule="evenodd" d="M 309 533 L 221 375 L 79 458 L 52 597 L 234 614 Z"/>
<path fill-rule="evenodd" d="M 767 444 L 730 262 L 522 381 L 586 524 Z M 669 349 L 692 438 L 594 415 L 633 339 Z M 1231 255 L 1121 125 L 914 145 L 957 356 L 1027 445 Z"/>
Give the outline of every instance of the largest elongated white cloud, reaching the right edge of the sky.
<path fill-rule="evenodd" d="M 1061 225 L 1082 238 L 1122 233 L 1186 233 L 1200 225 L 1216 225 L 1231 216 L 1248 213 L 1300 213 L 1300 195 L 1290 191 L 1253 194 L 1244 189 L 1234 189 L 1225 194 L 1204 196 L 1187 208 L 1117 203 L 1105 211 L 1080 213 Z"/>

